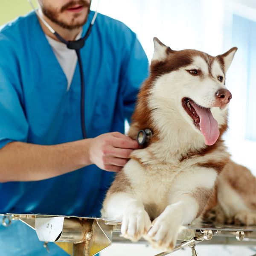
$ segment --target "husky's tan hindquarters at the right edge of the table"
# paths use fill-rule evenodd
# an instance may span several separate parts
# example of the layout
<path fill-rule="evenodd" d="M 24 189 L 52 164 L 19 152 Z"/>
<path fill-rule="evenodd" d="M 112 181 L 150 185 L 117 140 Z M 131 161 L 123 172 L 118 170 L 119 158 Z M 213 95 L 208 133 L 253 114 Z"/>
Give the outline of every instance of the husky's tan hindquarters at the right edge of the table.
<path fill-rule="evenodd" d="M 202 215 L 214 224 L 256 225 L 256 178 L 249 169 L 228 161 Z"/>

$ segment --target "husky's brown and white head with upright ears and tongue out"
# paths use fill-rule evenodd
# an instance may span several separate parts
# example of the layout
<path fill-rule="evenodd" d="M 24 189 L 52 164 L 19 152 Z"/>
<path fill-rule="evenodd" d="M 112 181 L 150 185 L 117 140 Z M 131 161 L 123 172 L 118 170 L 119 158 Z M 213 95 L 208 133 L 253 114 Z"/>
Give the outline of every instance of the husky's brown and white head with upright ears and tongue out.
<path fill-rule="evenodd" d="M 169 119 L 169 123 L 179 123 L 179 128 L 189 126 L 203 134 L 205 144 L 214 144 L 232 98 L 225 77 L 236 50 L 233 47 L 213 57 L 192 49 L 175 51 L 154 38 L 150 77 L 139 99 L 147 96 L 147 107 L 151 116 L 157 113 L 158 120 L 153 119 L 158 126 Z"/>

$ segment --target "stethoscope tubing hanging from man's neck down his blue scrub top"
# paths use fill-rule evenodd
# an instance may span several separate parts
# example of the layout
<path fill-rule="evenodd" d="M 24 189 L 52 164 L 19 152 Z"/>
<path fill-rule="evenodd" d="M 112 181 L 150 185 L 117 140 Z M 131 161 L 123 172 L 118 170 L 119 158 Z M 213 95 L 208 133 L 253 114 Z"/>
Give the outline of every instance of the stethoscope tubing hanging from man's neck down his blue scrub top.
<path fill-rule="evenodd" d="M 67 45 L 67 48 L 73 49 L 76 51 L 77 59 L 78 59 L 78 64 L 79 64 L 79 72 L 80 72 L 80 80 L 81 80 L 81 129 L 82 129 L 82 135 L 83 138 L 86 138 L 86 130 L 85 130 L 85 116 L 84 116 L 84 73 L 83 73 L 83 66 L 82 66 L 82 60 L 81 60 L 81 54 L 80 54 L 80 49 L 84 47 L 85 41 L 90 35 L 90 32 L 93 28 L 94 21 L 96 19 L 96 16 L 98 14 L 97 9 L 99 6 L 99 0 L 98 0 L 98 6 L 96 8 L 96 11 L 93 15 L 93 19 L 90 23 L 90 26 L 88 27 L 84 37 L 80 38 L 79 40 L 76 41 L 66 41 L 64 38 L 61 37 L 48 23 L 46 20 L 44 20 L 44 17 L 41 15 L 40 12 L 38 12 L 38 9 L 34 7 L 32 4 L 31 0 L 28 0 L 30 5 L 32 6 L 33 10 L 35 13 L 38 15 L 40 20 L 44 23 L 45 26 L 49 29 L 52 34 L 54 34 L 62 43 Z"/>

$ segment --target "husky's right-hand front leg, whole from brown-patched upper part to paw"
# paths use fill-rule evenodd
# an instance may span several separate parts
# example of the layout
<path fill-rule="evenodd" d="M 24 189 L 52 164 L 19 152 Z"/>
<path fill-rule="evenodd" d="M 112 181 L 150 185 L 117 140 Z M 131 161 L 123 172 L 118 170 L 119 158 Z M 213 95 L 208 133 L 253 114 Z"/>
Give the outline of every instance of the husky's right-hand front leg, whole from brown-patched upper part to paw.
<path fill-rule="evenodd" d="M 217 173 L 200 168 L 180 174 L 169 192 L 169 205 L 153 221 L 145 239 L 163 250 L 172 250 L 182 225 L 190 224 L 206 207 Z"/>

